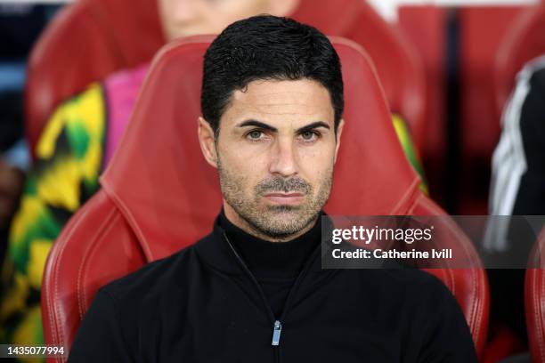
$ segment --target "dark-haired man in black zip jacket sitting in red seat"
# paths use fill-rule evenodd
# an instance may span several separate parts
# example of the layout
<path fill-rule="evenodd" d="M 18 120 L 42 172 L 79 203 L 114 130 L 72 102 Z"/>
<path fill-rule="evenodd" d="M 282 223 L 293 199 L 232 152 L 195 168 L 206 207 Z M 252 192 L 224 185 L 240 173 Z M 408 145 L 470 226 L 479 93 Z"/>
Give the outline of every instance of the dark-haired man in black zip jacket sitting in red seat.
<path fill-rule="evenodd" d="M 233 23 L 205 55 L 201 109 L 224 198 L 212 232 L 102 287 L 69 361 L 476 361 L 431 275 L 321 270 L 345 124 L 325 36 L 273 16 Z"/>

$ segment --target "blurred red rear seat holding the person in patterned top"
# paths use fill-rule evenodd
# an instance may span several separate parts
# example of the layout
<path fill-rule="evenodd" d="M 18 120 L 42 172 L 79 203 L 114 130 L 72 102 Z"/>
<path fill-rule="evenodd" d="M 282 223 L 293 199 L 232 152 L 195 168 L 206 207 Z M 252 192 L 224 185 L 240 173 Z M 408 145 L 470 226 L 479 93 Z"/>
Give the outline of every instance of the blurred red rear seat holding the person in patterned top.
<path fill-rule="evenodd" d="M 150 60 L 165 43 L 157 0 L 79 0 L 53 20 L 28 61 L 26 123 L 31 150 L 53 109 L 115 70 Z M 417 148 L 425 139 L 425 83 L 417 52 L 363 0 L 301 0 L 293 15 L 370 52 L 391 109 Z M 85 44 L 82 46 L 81 44 Z"/>

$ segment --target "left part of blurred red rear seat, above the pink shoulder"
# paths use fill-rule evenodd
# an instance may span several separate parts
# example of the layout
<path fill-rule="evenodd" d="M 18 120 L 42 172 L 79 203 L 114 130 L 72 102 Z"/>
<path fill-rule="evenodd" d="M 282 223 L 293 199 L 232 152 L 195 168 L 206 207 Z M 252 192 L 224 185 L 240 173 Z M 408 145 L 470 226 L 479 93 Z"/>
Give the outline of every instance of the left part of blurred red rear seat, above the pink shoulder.
<path fill-rule="evenodd" d="M 25 122 L 32 150 L 61 101 L 150 60 L 164 43 L 157 0 L 78 0 L 62 9 L 28 59 Z"/>

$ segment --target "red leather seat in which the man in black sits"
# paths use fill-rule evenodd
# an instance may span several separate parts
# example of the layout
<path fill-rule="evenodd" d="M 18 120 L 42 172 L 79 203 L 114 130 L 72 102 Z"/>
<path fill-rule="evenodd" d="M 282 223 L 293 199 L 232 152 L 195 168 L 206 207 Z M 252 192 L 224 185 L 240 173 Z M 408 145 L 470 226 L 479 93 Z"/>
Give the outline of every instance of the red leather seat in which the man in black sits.
<path fill-rule="evenodd" d="M 119 149 L 102 175 L 102 190 L 70 220 L 49 255 L 42 289 L 46 343 L 72 343 L 100 286 L 175 253 L 211 229 L 222 198 L 216 170 L 201 157 L 196 133 L 202 57 L 210 40 L 174 42 L 153 61 Z M 445 215 L 419 190 L 368 56 L 346 39 L 336 38 L 334 45 L 344 73 L 346 127 L 326 211 Z M 484 270 L 463 233 L 450 219 L 444 223 L 449 246 L 465 251 L 476 268 L 431 272 L 458 299 L 481 351 L 488 319 Z"/>

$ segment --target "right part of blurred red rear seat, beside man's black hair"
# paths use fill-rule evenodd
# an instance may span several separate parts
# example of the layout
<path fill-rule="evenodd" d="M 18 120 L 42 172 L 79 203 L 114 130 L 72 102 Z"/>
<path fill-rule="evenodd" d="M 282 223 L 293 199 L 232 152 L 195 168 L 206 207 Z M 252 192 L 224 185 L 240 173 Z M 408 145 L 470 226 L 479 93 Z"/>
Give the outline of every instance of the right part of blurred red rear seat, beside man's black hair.
<path fill-rule="evenodd" d="M 401 29 L 364 0 L 303 0 L 294 18 L 362 45 L 377 67 L 390 109 L 404 117 L 421 150 L 427 127 L 426 81 L 419 54 Z"/>

